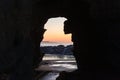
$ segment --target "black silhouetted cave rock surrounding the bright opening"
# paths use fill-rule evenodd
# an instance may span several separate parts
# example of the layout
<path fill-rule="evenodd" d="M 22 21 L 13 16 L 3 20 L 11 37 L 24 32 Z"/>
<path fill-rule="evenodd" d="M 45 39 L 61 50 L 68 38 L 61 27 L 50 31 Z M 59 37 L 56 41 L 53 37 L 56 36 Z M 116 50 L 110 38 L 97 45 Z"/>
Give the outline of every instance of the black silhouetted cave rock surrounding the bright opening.
<path fill-rule="evenodd" d="M 119 0 L 1 0 L 0 73 L 10 73 L 10 80 L 33 80 L 33 65 L 42 58 L 44 24 L 62 16 L 73 29 L 74 56 L 82 66 L 78 74 L 119 80 L 119 4 Z"/>

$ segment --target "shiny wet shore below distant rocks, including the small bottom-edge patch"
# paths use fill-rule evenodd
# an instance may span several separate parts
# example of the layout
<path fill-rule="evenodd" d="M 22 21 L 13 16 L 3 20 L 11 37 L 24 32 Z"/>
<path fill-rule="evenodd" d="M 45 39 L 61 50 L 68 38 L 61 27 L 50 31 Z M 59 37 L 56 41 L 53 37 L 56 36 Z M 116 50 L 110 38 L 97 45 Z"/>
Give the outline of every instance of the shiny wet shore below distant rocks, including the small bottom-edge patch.
<path fill-rule="evenodd" d="M 39 80 L 56 80 L 59 72 L 71 72 L 76 69 L 76 61 L 73 55 L 45 54 L 43 61 L 36 70 L 50 71 Z"/>

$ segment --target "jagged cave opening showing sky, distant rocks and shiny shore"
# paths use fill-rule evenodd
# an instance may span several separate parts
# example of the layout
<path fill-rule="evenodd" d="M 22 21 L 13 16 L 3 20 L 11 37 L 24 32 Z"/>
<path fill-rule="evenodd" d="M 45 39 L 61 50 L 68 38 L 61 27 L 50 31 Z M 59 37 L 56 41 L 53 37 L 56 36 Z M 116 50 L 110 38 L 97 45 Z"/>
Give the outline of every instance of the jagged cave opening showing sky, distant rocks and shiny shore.
<path fill-rule="evenodd" d="M 71 72 L 77 69 L 76 61 L 72 53 L 73 43 L 71 34 L 64 34 L 64 17 L 50 18 L 44 25 L 46 32 L 40 44 L 41 52 L 44 54 L 39 70 L 59 73 L 61 71 Z M 53 78 L 57 77 L 53 76 Z M 42 80 L 45 80 L 44 78 Z M 52 79 L 54 80 L 54 79 Z"/>

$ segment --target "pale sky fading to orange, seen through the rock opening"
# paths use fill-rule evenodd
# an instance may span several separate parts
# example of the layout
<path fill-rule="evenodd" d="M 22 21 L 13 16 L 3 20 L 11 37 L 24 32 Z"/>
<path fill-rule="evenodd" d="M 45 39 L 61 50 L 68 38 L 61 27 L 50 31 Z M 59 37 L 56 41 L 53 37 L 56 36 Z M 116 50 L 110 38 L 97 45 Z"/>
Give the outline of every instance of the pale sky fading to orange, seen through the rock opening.
<path fill-rule="evenodd" d="M 71 43 L 71 34 L 65 35 L 63 32 L 63 22 L 66 18 L 50 18 L 45 24 L 47 31 L 44 34 L 43 41 Z"/>

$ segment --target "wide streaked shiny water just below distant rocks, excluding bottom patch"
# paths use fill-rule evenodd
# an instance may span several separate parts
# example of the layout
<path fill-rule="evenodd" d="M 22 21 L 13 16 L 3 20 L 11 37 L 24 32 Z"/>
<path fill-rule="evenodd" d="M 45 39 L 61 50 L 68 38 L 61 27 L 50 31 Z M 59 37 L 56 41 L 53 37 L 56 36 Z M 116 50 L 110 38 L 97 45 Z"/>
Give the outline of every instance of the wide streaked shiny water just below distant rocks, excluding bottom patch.
<path fill-rule="evenodd" d="M 76 61 L 72 55 L 46 54 L 37 70 L 44 71 L 73 71 L 77 69 Z"/>

